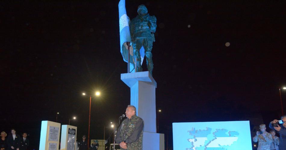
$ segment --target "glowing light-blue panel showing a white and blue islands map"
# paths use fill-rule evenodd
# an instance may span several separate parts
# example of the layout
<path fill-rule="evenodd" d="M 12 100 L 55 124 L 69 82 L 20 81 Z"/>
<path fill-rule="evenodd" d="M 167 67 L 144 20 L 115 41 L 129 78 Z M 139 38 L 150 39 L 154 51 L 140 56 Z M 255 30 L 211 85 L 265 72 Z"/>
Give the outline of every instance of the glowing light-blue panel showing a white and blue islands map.
<path fill-rule="evenodd" d="M 174 150 L 252 150 L 249 121 L 173 123 Z"/>

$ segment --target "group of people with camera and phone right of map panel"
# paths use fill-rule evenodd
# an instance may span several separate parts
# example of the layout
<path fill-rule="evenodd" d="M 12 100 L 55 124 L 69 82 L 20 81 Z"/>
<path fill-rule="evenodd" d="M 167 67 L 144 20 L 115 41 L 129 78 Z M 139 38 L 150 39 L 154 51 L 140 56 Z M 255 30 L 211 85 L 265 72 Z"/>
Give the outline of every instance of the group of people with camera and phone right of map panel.
<path fill-rule="evenodd" d="M 286 115 L 281 116 L 280 122 L 273 120 L 269 123 L 270 132 L 266 132 L 266 125 L 260 124 L 260 131 L 256 132 L 253 142 L 258 142 L 257 150 L 286 149 Z M 279 134 L 275 136 L 276 132 Z"/>

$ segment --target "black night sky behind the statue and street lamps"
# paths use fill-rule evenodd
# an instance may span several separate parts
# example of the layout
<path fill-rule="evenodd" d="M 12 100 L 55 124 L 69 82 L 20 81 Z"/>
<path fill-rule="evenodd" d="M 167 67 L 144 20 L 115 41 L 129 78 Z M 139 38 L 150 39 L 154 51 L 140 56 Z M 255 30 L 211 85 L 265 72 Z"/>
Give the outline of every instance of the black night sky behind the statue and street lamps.
<path fill-rule="evenodd" d="M 104 126 L 118 123 L 130 103 L 120 80 L 127 63 L 118 2 L 0 2 L 1 131 L 28 132 L 30 149 L 38 149 L 41 121 L 55 121 L 60 112 L 61 124 L 77 117 L 70 125 L 81 139 L 89 115 L 82 92 L 92 95 L 90 139 L 103 139 Z M 157 17 L 153 77 L 168 148 L 173 122 L 250 120 L 253 127 L 281 116 L 285 3 L 126 0 L 131 19 L 141 4 Z M 286 90 L 281 96 L 286 101 Z M 257 116 L 263 120 L 251 124 Z"/>

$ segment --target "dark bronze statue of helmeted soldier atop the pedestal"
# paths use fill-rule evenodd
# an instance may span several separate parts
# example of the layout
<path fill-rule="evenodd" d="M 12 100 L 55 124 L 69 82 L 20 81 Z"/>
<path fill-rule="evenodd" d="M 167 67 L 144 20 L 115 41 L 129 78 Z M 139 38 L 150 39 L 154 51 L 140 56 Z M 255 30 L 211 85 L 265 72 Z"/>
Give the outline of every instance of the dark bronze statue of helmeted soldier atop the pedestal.
<path fill-rule="evenodd" d="M 150 16 L 145 5 L 139 5 L 137 10 L 138 15 L 131 20 L 130 35 L 133 47 L 133 57 L 137 60 L 137 72 L 142 71 L 140 49 L 143 46 L 146 55 L 147 69 L 152 74 L 153 60 L 152 47 L 155 41 L 154 33 L 157 28 L 157 18 Z"/>

